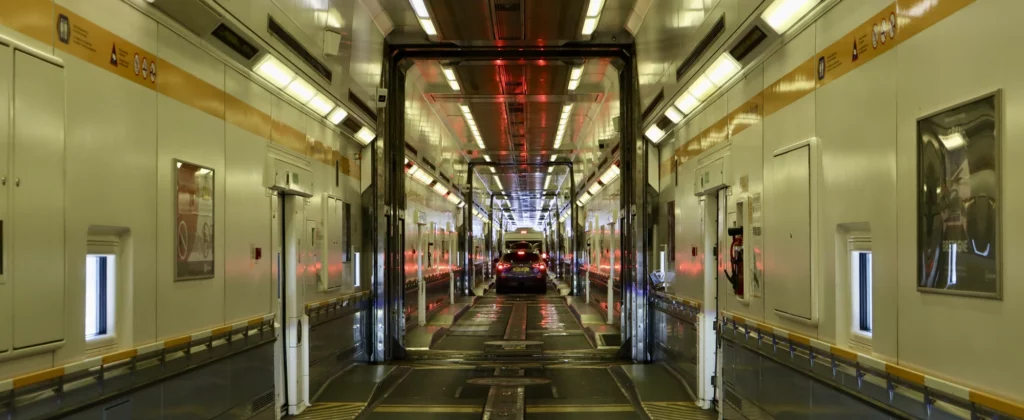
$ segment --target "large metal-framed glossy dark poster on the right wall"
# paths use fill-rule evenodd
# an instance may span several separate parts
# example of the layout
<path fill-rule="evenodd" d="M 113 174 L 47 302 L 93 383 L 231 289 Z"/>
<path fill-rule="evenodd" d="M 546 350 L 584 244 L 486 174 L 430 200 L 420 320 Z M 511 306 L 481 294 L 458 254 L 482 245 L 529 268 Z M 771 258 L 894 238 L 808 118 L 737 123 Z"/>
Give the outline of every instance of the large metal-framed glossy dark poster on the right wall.
<path fill-rule="evenodd" d="M 918 120 L 918 290 L 1000 299 L 999 92 Z"/>

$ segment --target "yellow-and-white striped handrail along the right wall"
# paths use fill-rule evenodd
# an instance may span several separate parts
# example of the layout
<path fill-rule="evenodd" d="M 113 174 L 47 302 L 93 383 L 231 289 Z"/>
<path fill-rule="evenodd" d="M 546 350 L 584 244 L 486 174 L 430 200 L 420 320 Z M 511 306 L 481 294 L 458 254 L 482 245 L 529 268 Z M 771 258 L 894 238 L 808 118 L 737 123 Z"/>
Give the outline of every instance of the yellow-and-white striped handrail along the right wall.
<path fill-rule="evenodd" d="M 655 293 L 653 298 L 680 302 L 684 305 L 689 305 L 690 309 L 696 309 L 696 311 L 699 311 L 701 305 L 701 302 L 696 300 L 664 292 Z M 954 406 L 966 406 L 964 408 L 970 410 L 972 415 L 983 414 L 987 411 L 1016 418 L 1024 418 L 1024 405 L 1020 403 L 954 384 L 922 372 L 887 363 L 868 354 L 838 347 L 824 341 L 750 320 L 735 313 L 722 311 L 720 325 L 723 336 L 725 336 L 724 331 L 726 328 L 732 330 L 733 336 L 742 334 L 744 341 L 754 334 L 757 336 L 758 341 L 756 342 L 758 344 L 770 344 L 772 352 L 781 347 L 786 349 L 791 356 L 798 351 L 806 353 L 812 366 L 816 358 L 826 359 L 831 364 L 834 373 L 842 365 L 854 370 L 858 378 L 863 378 L 865 374 L 873 374 L 885 380 L 890 391 L 895 389 L 896 384 L 906 385 L 911 389 L 920 389 L 922 391 L 922 403 L 927 407 L 934 406 L 937 397 L 944 397 Z M 764 351 L 760 345 L 748 345 L 748 347 L 758 352 L 772 355 Z M 810 372 L 805 373 L 810 374 Z"/>

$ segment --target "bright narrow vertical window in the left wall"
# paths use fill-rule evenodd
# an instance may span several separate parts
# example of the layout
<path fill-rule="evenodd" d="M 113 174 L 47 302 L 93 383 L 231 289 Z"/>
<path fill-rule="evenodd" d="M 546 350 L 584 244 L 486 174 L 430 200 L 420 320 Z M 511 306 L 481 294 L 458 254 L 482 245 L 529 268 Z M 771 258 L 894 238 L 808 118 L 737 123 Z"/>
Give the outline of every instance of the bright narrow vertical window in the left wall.
<path fill-rule="evenodd" d="M 113 254 L 85 257 L 85 339 L 114 334 L 115 269 Z"/>

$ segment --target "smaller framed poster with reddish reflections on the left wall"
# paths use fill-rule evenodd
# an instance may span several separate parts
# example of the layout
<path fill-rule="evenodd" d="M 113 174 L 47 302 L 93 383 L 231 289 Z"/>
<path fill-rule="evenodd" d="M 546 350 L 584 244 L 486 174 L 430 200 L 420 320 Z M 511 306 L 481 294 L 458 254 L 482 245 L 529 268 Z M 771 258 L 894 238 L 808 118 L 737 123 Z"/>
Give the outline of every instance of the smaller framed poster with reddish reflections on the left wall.
<path fill-rule="evenodd" d="M 213 278 L 213 169 L 174 161 L 174 281 Z"/>

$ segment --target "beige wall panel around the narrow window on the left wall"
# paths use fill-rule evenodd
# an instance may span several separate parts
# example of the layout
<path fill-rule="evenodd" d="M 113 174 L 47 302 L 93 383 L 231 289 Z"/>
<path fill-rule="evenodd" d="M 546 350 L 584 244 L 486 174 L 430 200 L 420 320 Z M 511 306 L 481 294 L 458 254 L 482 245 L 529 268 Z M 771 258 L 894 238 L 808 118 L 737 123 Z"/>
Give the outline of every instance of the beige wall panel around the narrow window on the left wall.
<path fill-rule="evenodd" d="M 156 30 L 156 28 L 154 28 Z M 67 67 L 68 334 L 56 360 L 85 352 L 85 255 L 90 225 L 127 227 L 132 236 L 130 316 L 119 310 L 119 344 L 156 338 L 157 93 L 105 69 L 61 54 Z M 119 308 L 121 309 L 121 308 Z M 125 334 L 126 333 L 126 334 Z"/>

